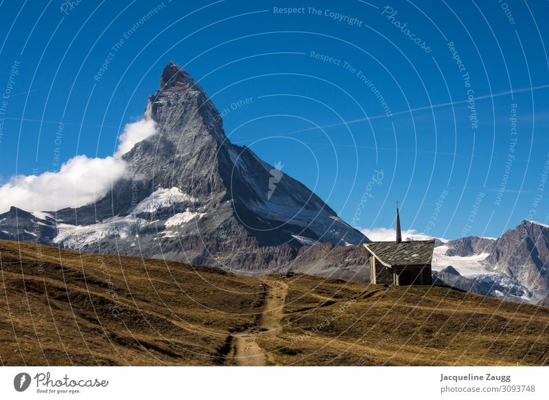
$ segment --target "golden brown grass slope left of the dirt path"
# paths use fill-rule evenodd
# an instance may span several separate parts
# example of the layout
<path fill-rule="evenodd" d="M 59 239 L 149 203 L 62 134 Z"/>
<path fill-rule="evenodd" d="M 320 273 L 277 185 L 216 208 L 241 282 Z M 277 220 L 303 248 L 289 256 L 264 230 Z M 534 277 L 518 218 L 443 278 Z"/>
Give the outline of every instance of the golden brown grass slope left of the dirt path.
<path fill-rule="evenodd" d="M 9 241 L 0 260 L 3 365 L 222 364 L 264 297 L 253 278 L 163 260 Z"/>

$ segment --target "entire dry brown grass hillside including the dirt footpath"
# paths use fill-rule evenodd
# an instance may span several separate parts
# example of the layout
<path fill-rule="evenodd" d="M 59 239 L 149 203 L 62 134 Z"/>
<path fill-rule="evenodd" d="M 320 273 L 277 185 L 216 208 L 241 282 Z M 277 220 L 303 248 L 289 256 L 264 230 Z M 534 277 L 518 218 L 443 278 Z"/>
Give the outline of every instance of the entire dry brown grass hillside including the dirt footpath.
<path fill-rule="evenodd" d="M 547 365 L 549 308 L 0 241 L 3 365 Z"/>

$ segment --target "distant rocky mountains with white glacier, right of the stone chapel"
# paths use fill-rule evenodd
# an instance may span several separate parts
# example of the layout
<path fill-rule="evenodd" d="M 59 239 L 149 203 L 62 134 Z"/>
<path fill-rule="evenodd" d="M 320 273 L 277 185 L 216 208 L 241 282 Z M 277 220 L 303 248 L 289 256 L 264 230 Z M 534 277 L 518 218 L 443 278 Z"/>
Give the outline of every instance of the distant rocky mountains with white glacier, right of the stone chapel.
<path fill-rule="evenodd" d="M 522 221 L 501 238 L 460 238 L 443 243 L 433 275 L 447 285 L 487 296 L 537 302 L 548 297 L 549 226 Z M 437 253 L 435 249 L 435 254 Z M 443 269 L 448 265 L 452 270 Z"/>

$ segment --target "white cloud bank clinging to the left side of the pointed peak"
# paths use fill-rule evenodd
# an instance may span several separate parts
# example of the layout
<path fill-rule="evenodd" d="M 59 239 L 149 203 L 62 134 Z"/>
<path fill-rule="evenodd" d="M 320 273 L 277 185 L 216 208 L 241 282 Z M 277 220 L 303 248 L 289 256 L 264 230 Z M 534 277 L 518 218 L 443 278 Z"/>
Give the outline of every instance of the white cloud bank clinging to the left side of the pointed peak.
<path fill-rule="evenodd" d="M 8 211 L 12 205 L 29 212 L 56 211 L 101 199 L 127 174 L 128 165 L 121 155 L 155 133 L 154 121 L 145 115 L 124 126 L 114 157 L 77 155 L 56 172 L 11 177 L 7 184 L 0 186 L 0 212 Z"/>

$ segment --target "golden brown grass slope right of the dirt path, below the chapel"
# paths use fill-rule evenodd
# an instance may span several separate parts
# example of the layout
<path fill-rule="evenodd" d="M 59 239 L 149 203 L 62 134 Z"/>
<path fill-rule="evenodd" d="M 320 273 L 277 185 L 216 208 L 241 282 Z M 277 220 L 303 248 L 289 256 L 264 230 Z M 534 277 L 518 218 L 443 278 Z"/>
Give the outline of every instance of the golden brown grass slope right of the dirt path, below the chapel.
<path fill-rule="evenodd" d="M 280 277 L 283 278 L 283 277 Z M 272 364 L 547 365 L 549 308 L 444 287 L 286 278 Z"/>

